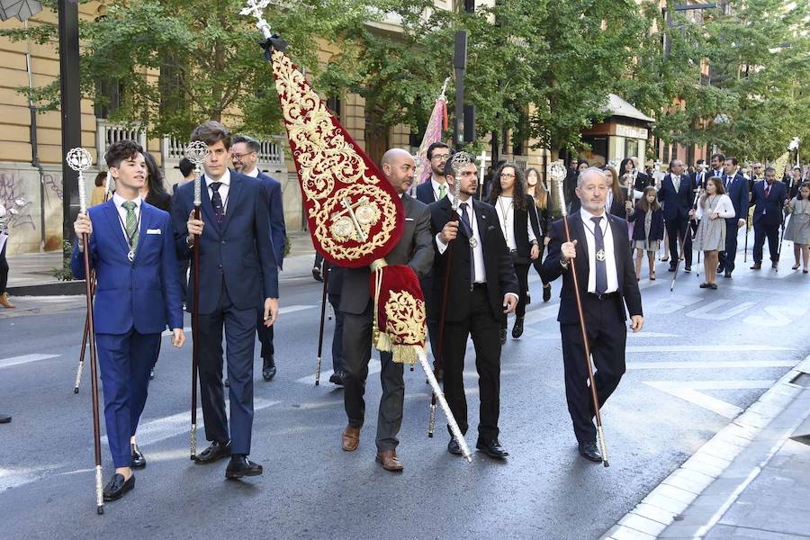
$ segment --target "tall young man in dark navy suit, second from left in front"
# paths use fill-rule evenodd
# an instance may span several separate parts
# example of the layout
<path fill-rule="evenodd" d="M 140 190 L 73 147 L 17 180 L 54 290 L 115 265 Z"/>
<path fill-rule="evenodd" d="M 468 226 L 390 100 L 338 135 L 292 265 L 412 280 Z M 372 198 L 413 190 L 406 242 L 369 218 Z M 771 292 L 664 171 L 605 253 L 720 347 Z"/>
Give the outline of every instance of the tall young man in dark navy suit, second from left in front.
<path fill-rule="evenodd" d="M 198 310 L 200 396 L 205 437 L 211 446 L 196 456 L 198 464 L 211 464 L 230 456 L 226 478 L 257 476 L 262 466 L 247 459 L 253 430 L 253 350 L 256 311 L 271 326 L 278 315 L 278 267 L 270 238 L 270 202 L 256 178 L 230 171 L 230 132 L 218 121 L 206 121 L 193 130 L 210 151 L 202 178 L 202 220 L 193 217 L 193 182 L 175 192 L 172 218 L 180 257 L 191 257 L 200 242 L 200 302 Z M 264 289 L 264 291 L 263 291 Z M 222 330 L 227 343 L 230 381 L 230 429 L 225 416 L 222 385 Z"/>

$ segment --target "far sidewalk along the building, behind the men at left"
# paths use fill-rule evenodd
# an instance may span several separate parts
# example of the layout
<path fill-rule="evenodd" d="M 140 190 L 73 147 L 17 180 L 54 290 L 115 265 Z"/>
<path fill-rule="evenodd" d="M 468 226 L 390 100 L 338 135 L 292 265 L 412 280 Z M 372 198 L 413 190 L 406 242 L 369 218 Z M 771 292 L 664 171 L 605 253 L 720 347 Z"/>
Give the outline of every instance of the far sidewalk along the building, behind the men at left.
<path fill-rule="evenodd" d="M 293 244 L 293 248 L 290 255 L 284 258 L 284 271 L 279 275 L 279 279 L 284 281 L 303 276 L 311 277 L 312 265 L 315 261 L 315 248 L 312 247 L 310 233 L 291 232 L 288 237 Z M 28 253 L 8 257 L 8 266 L 9 296 L 60 294 L 53 291 L 58 291 L 58 284 L 65 283 L 58 282 L 53 277 L 53 270 L 62 266 L 62 254 L 59 251 Z M 23 287 L 24 289 L 22 289 Z M 76 291 L 81 293 L 84 289 L 75 289 L 71 293 L 75 294 Z"/>

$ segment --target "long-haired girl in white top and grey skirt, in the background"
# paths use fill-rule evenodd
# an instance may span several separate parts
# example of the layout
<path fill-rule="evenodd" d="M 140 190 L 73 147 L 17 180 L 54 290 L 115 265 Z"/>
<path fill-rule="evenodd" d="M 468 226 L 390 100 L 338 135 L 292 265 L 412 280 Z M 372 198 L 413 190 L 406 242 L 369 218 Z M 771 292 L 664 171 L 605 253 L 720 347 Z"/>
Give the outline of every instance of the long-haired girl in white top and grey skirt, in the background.
<path fill-rule="evenodd" d="M 689 211 L 692 219 L 698 220 L 698 232 L 692 246 L 703 251 L 703 267 L 706 269 L 706 282 L 701 289 L 717 289 L 717 260 L 720 250 L 725 249 L 725 219 L 733 218 L 734 203 L 725 194 L 723 182 L 712 176 L 706 182 L 706 192 L 698 198 L 698 210 Z"/>

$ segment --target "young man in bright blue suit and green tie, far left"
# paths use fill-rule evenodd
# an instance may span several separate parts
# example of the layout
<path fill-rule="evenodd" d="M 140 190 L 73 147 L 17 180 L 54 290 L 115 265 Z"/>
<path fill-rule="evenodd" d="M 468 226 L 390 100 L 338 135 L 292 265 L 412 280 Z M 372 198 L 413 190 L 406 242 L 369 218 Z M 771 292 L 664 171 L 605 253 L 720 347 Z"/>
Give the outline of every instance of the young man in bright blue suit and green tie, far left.
<path fill-rule="evenodd" d="M 97 280 L 94 320 L 104 420 L 115 465 L 103 497 L 117 500 L 135 487 L 132 468 L 146 465 L 132 441 L 160 335 L 168 324 L 175 347 L 183 346 L 185 336 L 172 221 L 166 211 L 140 198 L 147 170 L 143 148 L 121 140 L 112 144 L 105 160 L 115 194 L 76 218 L 76 236 L 89 234 L 90 246 L 77 238 L 70 266 L 77 279 L 85 279 L 82 253 L 90 250 Z"/>

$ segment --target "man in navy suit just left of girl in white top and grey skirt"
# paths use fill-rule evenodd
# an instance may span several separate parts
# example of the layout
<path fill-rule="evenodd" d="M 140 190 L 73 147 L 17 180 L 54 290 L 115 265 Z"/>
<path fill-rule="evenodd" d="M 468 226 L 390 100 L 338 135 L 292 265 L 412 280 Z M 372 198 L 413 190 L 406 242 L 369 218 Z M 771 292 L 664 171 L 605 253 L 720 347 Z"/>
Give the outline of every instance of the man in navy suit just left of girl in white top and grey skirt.
<path fill-rule="evenodd" d="M 678 263 L 678 241 L 684 247 L 685 272 L 692 271 L 692 236 L 689 234 L 689 210 L 698 185 L 683 172 L 683 161 L 673 159 L 670 170 L 661 182 L 658 200 L 662 202 L 664 223 L 670 237 L 670 272 L 675 272 Z M 677 238 L 677 239 L 676 239 Z"/>

